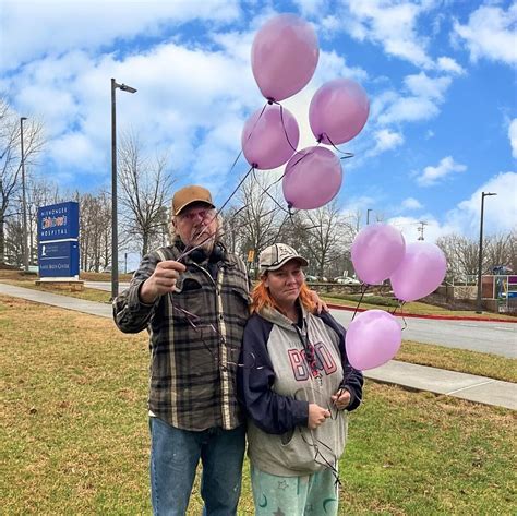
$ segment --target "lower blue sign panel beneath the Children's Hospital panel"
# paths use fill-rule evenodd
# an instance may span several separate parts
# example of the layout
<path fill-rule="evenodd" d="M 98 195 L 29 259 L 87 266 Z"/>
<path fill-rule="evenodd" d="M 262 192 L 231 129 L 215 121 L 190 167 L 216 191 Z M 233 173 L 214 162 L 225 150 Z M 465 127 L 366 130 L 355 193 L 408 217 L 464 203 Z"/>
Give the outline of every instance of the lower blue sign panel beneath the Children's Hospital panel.
<path fill-rule="evenodd" d="M 77 240 L 39 242 L 38 265 L 40 277 L 73 277 L 79 275 Z"/>

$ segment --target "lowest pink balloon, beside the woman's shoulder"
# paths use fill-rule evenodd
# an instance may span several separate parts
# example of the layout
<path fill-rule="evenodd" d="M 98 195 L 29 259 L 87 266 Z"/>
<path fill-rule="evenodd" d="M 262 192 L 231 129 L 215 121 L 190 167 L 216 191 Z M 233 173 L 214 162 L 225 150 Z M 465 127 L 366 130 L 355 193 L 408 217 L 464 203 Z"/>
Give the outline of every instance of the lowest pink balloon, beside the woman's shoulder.
<path fill-rule="evenodd" d="M 378 368 L 392 360 L 400 348 L 402 329 L 384 310 L 366 310 L 348 326 L 345 336 L 348 361 L 354 369 Z"/>

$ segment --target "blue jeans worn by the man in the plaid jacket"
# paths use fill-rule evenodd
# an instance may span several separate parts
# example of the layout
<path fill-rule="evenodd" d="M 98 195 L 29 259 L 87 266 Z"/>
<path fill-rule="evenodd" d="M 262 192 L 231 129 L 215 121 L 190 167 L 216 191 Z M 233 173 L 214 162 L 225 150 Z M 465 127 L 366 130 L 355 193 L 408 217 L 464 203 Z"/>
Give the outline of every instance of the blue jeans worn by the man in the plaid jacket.
<path fill-rule="evenodd" d="M 205 516 L 237 514 L 245 430 L 180 430 L 151 418 L 151 496 L 156 516 L 183 516 L 201 458 Z"/>

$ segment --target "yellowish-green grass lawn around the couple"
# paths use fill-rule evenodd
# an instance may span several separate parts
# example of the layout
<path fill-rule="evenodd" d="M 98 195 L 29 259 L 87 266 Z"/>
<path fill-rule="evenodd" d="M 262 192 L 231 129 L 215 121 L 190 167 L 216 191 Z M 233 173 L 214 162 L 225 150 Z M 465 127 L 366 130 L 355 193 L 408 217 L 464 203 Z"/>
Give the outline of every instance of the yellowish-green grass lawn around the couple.
<path fill-rule="evenodd" d="M 0 297 L 2 514 L 151 513 L 147 364 L 145 332 Z M 515 514 L 514 443 L 510 410 L 366 381 L 340 513 Z M 248 465 L 239 514 L 253 514 Z"/>

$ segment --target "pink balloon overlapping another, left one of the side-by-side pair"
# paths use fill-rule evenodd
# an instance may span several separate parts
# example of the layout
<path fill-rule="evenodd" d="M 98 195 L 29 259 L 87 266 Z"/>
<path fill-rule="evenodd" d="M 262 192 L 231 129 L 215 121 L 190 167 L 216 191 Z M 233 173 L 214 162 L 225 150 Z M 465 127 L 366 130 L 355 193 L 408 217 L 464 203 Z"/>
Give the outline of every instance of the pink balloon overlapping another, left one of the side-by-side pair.
<path fill-rule="evenodd" d="M 402 233 L 388 224 L 361 229 L 353 240 L 351 257 L 356 274 L 365 284 L 381 285 L 404 259 Z"/>

